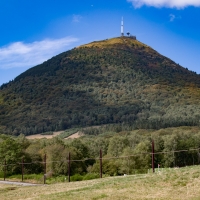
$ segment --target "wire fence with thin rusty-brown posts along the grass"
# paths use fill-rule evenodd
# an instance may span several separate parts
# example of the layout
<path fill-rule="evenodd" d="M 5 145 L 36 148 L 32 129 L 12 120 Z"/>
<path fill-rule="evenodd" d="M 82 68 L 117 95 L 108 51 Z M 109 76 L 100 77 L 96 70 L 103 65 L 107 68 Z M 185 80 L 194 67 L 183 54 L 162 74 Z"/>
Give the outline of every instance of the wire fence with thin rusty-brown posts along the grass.
<path fill-rule="evenodd" d="M 112 160 L 112 159 L 127 159 L 129 161 L 132 157 L 144 157 L 144 155 L 149 155 L 151 157 L 151 166 L 150 166 L 150 169 L 148 168 L 146 170 L 146 173 L 149 173 L 150 170 L 152 171 L 152 173 L 155 173 L 155 168 L 157 168 L 156 171 L 159 171 L 159 168 L 160 168 L 160 164 L 158 163 L 158 161 L 155 162 L 155 157 L 157 155 L 171 154 L 175 158 L 175 154 L 196 152 L 197 153 L 196 163 L 195 163 L 195 160 L 194 160 L 194 156 L 192 158 L 193 159 L 193 165 L 195 165 L 195 164 L 199 164 L 199 161 L 200 161 L 199 150 L 200 150 L 200 148 L 193 148 L 193 149 L 173 150 L 173 151 L 165 151 L 165 152 L 155 152 L 154 151 L 154 142 L 152 141 L 152 151 L 151 152 L 141 152 L 141 153 L 134 154 L 134 155 L 126 155 L 126 156 L 119 156 L 119 157 L 104 157 L 103 158 L 103 156 L 102 156 L 103 152 L 100 149 L 99 158 L 85 158 L 85 159 L 81 159 L 81 160 L 73 160 L 73 159 L 71 159 L 71 154 L 69 152 L 68 159 L 65 161 L 67 163 L 68 182 L 71 181 L 71 163 L 72 162 L 85 162 L 85 161 L 89 161 L 89 160 L 95 160 L 96 163 L 97 163 L 97 161 L 98 161 L 99 162 L 99 178 L 102 178 L 103 177 L 103 161 Z M 179 157 L 177 157 L 177 158 L 179 158 Z M 21 168 L 21 175 L 20 175 L 21 181 L 24 182 L 24 176 L 25 176 L 24 168 L 25 168 L 25 166 L 26 165 L 33 165 L 33 164 L 40 164 L 43 167 L 43 174 L 40 174 L 40 182 L 42 182 L 43 184 L 46 184 L 46 180 L 49 177 L 48 173 L 47 173 L 47 165 L 49 163 L 59 163 L 59 162 L 61 162 L 61 161 L 48 161 L 47 162 L 47 155 L 46 154 L 44 155 L 43 161 L 38 161 L 38 162 L 25 163 L 24 159 L 22 159 L 20 163 L 7 164 L 7 162 L 5 160 L 4 163 L 1 164 L 2 169 L 3 169 L 3 180 L 4 181 L 9 180 L 8 179 L 9 177 L 7 177 L 8 166 L 16 166 L 16 165 L 20 166 L 20 168 Z M 183 161 L 182 163 L 184 163 L 184 162 L 185 161 Z M 155 163 L 157 163 L 157 167 L 155 167 Z M 185 162 L 185 166 L 186 165 L 187 165 L 187 163 Z M 191 162 L 190 162 L 190 165 L 191 165 Z M 176 161 L 174 161 L 173 167 L 176 167 Z M 18 177 L 18 180 L 19 180 L 19 177 Z M 65 178 L 65 180 L 66 180 L 66 178 Z"/>

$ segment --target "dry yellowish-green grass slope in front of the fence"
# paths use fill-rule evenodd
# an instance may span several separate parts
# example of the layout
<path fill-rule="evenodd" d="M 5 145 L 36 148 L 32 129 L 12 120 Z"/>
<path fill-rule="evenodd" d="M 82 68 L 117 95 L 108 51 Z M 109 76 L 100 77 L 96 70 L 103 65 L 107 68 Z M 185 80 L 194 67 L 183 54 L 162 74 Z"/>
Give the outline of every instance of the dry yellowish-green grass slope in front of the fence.
<path fill-rule="evenodd" d="M 200 199 L 200 166 L 156 174 L 22 187 L 0 184 L 0 199 Z"/>

